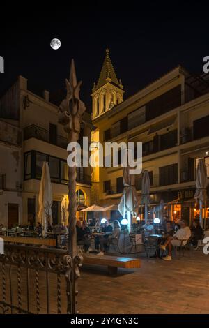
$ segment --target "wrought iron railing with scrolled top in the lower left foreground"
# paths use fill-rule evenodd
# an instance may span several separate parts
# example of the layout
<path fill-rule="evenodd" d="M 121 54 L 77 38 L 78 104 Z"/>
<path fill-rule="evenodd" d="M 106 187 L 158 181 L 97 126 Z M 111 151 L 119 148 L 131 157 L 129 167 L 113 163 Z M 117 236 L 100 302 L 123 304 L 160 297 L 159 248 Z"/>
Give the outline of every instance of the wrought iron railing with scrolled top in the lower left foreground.
<path fill-rule="evenodd" d="M 0 313 L 72 313 L 72 267 L 67 251 L 6 244 L 0 255 Z"/>

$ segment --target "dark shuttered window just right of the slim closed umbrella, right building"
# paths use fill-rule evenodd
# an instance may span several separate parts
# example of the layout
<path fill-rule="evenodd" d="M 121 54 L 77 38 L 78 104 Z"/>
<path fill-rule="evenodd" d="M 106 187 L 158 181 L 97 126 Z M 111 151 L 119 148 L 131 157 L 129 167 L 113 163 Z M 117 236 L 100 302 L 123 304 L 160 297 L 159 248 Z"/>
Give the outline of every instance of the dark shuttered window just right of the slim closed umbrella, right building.
<path fill-rule="evenodd" d="M 167 165 L 159 168 L 160 186 L 178 183 L 178 164 Z"/>

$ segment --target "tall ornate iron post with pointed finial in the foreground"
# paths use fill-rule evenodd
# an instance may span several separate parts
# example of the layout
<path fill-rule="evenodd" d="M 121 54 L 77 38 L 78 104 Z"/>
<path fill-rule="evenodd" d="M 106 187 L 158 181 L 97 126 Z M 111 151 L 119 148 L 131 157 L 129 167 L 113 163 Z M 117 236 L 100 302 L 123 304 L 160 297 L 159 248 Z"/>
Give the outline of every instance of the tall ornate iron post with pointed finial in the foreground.
<path fill-rule="evenodd" d="M 80 132 L 82 116 L 86 106 L 79 98 L 79 91 L 82 81 L 77 83 L 75 73 L 75 64 L 72 59 L 70 66 L 70 78 L 65 80 L 67 95 L 59 106 L 59 122 L 63 124 L 64 130 L 68 133 L 68 142 L 77 142 Z M 68 151 L 68 154 L 70 152 Z M 70 273 L 70 284 L 68 284 L 68 297 L 70 297 L 70 306 L 68 313 L 77 313 L 77 278 L 79 277 L 79 266 L 82 265 L 82 255 L 77 250 L 76 240 L 76 166 L 68 167 L 68 213 L 69 213 L 69 238 L 68 250 L 72 258 L 72 271 Z"/>

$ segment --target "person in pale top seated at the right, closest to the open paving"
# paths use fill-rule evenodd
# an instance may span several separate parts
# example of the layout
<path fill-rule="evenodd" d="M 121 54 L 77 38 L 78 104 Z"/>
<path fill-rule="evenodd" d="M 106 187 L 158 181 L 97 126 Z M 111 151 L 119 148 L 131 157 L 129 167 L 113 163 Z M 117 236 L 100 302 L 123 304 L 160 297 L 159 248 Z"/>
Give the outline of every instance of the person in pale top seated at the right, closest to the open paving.
<path fill-rule="evenodd" d="M 160 246 L 160 248 L 162 248 L 164 251 L 166 250 L 166 248 L 168 248 L 168 255 L 163 258 L 163 260 L 165 261 L 172 259 L 171 253 L 173 246 L 184 246 L 185 244 L 187 244 L 187 240 L 189 239 L 189 237 L 191 237 L 191 230 L 187 226 L 186 221 L 180 221 L 179 225 L 180 229 L 178 229 L 177 232 L 173 234 L 173 236 L 169 236 L 165 241 L 164 245 Z"/>

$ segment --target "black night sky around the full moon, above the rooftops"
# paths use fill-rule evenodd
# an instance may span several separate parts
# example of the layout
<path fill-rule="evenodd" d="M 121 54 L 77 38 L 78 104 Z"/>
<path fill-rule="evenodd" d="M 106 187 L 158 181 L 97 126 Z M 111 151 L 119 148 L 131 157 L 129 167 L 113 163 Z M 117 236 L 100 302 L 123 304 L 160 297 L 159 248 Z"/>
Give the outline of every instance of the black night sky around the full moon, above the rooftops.
<path fill-rule="evenodd" d="M 5 61 L 0 94 L 17 75 L 26 77 L 29 89 L 37 93 L 63 89 L 74 58 L 77 77 L 83 81 L 82 100 L 91 110 L 91 89 L 106 47 L 122 79 L 125 98 L 178 64 L 191 73 L 203 73 L 203 57 L 209 55 L 206 7 L 182 8 L 176 2 L 175 6 L 169 3 L 167 10 L 150 6 L 150 10 L 120 11 L 111 10 L 107 3 L 109 10 L 29 10 L 8 15 L 6 22 L 0 22 L 0 55 Z M 59 50 L 50 47 L 52 38 L 61 40 Z"/>

